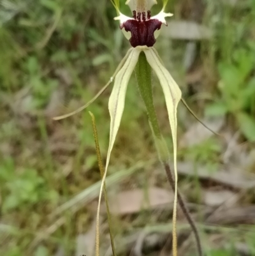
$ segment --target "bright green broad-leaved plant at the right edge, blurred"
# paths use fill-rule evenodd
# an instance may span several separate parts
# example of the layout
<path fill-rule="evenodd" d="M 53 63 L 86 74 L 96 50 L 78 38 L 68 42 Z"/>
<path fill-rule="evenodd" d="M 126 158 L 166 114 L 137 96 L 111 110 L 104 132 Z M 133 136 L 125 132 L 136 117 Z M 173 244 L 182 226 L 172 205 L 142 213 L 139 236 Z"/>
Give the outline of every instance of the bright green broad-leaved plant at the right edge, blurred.
<path fill-rule="evenodd" d="M 237 49 L 230 62 L 219 63 L 221 98 L 207 105 L 207 116 L 232 114 L 246 139 L 255 140 L 255 54 L 251 47 Z"/>

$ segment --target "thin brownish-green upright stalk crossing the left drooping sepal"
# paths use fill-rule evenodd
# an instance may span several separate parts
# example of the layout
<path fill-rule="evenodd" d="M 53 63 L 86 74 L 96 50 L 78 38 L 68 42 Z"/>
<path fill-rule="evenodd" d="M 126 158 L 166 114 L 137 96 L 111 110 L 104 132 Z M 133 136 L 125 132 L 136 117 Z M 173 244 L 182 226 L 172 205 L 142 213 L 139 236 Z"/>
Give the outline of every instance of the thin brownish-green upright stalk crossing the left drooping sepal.
<path fill-rule="evenodd" d="M 100 147 L 99 147 L 99 141 L 98 141 L 98 131 L 96 129 L 96 120 L 95 120 L 94 115 L 90 111 L 89 111 L 89 114 L 91 115 L 91 119 L 92 119 L 93 135 L 94 135 L 94 140 L 95 140 L 95 144 L 96 144 L 96 156 L 98 157 L 98 166 L 99 166 L 101 178 L 103 178 L 103 174 L 105 173 L 105 169 L 103 167 L 103 161 L 102 161 L 101 153 L 100 153 Z M 110 209 L 109 209 L 109 205 L 108 205 L 108 197 L 107 197 L 107 193 L 106 193 L 105 184 L 104 184 L 104 195 L 105 195 L 105 204 L 106 204 L 110 239 L 111 239 L 111 244 L 112 244 L 112 254 L 113 254 L 113 256 L 116 256 L 115 246 L 114 246 L 114 239 L 113 239 L 113 232 L 112 232 L 111 214 L 110 214 Z M 98 243 L 98 245 L 96 245 L 96 247 L 99 248 L 99 227 L 98 226 L 96 227 L 96 237 L 97 237 L 96 243 Z"/>

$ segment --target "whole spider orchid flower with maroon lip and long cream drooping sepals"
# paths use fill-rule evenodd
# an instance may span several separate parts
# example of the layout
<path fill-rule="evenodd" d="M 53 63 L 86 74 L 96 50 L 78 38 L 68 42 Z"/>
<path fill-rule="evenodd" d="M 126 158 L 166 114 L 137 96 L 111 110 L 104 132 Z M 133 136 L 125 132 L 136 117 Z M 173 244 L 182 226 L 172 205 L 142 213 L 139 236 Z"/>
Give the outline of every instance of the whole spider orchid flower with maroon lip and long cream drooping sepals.
<path fill-rule="evenodd" d="M 126 4 L 129 5 L 133 16 L 127 17 L 120 13 L 119 10 L 119 0 L 111 0 L 113 6 L 117 10 L 118 16 L 115 20 L 119 20 L 120 29 L 128 38 L 131 49 L 128 50 L 124 59 L 122 59 L 117 70 L 109 80 L 109 82 L 99 91 L 99 93 L 86 105 L 80 109 L 66 114 L 61 117 L 55 117 L 55 119 L 62 119 L 64 117 L 71 116 L 80 110 L 85 109 L 89 104 L 94 102 L 98 96 L 105 91 L 106 87 L 109 86 L 114 80 L 114 85 L 112 93 L 108 102 L 108 109 L 110 112 L 110 140 L 108 146 L 108 153 L 106 156 L 106 166 L 105 173 L 103 175 L 101 190 L 99 193 L 99 204 L 97 213 L 97 223 L 99 223 L 99 206 L 101 202 L 101 195 L 103 192 L 103 187 L 105 184 L 106 173 L 108 165 L 110 162 L 110 154 L 112 153 L 113 144 L 117 136 L 117 132 L 120 126 L 120 120 L 122 118 L 122 113 L 124 110 L 126 90 L 128 86 L 129 79 L 136 68 L 136 64 L 139 64 L 140 57 L 146 58 L 147 63 L 154 72 L 156 73 L 161 87 L 163 89 L 164 98 L 166 101 L 166 108 L 168 110 L 168 117 L 171 127 L 171 135 L 173 138 L 173 165 L 175 170 L 175 204 L 173 211 L 173 218 L 176 219 L 176 202 L 177 202 L 177 105 L 181 99 L 181 91 L 179 86 L 173 80 L 170 73 L 164 67 L 156 49 L 153 47 L 156 43 L 156 38 L 159 35 L 159 29 L 161 29 L 162 24 L 166 25 L 166 17 L 171 17 L 171 13 L 164 13 L 164 8 L 168 0 L 163 0 L 163 9 L 156 15 L 151 17 L 150 8 L 157 4 L 156 0 L 128 0 Z M 145 75 L 146 77 L 146 75 Z M 146 94 L 146 93 L 145 93 Z M 151 121 L 151 120 L 150 120 Z M 150 122 L 152 123 L 152 122 Z M 156 138 L 156 146 L 158 151 L 165 151 L 165 145 L 160 136 Z M 164 153 L 163 153 L 164 154 Z M 174 216 L 175 215 L 175 216 Z M 99 225 L 97 225 L 97 246 L 96 255 L 99 255 Z M 173 233 L 175 230 L 173 230 Z M 173 241 L 175 247 L 177 248 L 177 241 Z"/>

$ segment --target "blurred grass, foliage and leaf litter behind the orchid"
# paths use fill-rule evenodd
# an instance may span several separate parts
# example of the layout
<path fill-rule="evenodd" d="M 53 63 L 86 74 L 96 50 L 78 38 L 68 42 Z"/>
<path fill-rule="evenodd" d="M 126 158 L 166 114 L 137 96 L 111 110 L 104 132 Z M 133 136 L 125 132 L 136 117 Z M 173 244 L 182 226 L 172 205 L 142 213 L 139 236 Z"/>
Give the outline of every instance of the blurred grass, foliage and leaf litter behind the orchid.
<path fill-rule="evenodd" d="M 255 2 L 169 2 L 175 15 L 156 48 L 194 112 L 223 135 L 179 106 L 180 191 L 206 255 L 255 255 Z M 113 17 L 108 0 L 0 1 L 1 255 L 94 253 L 100 174 L 90 116 L 52 117 L 84 105 L 124 56 L 129 43 Z M 89 107 L 103 157 L 109 94 Z M 156 79 L 154 95 L 171 145 Z M 170 255 L 173 195 L 135 79 L 106 185 L 119 255 Z M 110 255 L 104 212 L 101 219 L 102 253 Z M 179 243 L 180 255 L 196 255 L 180 212 Z"/>

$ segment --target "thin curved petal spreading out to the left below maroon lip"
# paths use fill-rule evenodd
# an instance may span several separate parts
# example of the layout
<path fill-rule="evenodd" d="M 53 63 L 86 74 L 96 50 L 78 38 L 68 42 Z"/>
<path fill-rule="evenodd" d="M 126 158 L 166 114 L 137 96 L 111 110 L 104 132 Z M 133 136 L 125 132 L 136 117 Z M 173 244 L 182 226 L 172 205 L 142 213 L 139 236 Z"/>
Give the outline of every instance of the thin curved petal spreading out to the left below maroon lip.
<path fill-rule="evenodd" d="M 105 90 L 108 86 L 110 86 L 110 84 L 113 82 L 113 80 L 115 79 L 117 73 L 120 71 L 120 69 L 122 68 L 122 66 L 124 65 L 125 61 L 128 59 L 128 56 L 131 52 L 133 48 L 129 49 L 126 56 L 122 59 L 122 61 L 120 61 L 120 64 L 119 66 L 117 67 L 117 69 L 115 70 L 115 72 L 113 73 L 112 77 L 110 78 L 110 80 L 108 81 L 108 83 L 96 94 L 96 96 L 94 96 L 94 98 L 92 98 L 92 100 L 90 100 L 87 104 L 85 104 L 84 106 L 80 107 L 79 109 L 71 112 L 71 113 L 68 113 L 68 114 L 65 114 L 65 115 L 62 115 L 62 116 L 57 116 L 57 117 L 53 117 L 54 120 L 60 120 L 60 119 L 64 119 L 66 117 L 69 117 L 69 116 L 73 116 L 74 114 L 77 114 L 78 112 L 86 109 L 87 107 L 89 107 L 89 105 L 91 105 L 91 103 L 93 103 Z"/>

